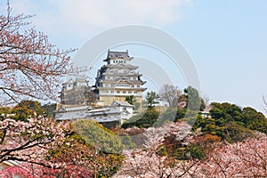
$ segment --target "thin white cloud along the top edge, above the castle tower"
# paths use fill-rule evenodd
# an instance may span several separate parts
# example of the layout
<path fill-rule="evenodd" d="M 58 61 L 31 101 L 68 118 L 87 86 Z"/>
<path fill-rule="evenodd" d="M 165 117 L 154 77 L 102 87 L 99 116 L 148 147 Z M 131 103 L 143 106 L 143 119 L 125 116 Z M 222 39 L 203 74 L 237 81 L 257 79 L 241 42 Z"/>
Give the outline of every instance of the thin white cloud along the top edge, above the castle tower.
<path fill-rule="evenodd" d="M 153 22 L 165 25 L 179 18 L 185 0 L 58 0 L 62 20 L 93 26 Z"/>

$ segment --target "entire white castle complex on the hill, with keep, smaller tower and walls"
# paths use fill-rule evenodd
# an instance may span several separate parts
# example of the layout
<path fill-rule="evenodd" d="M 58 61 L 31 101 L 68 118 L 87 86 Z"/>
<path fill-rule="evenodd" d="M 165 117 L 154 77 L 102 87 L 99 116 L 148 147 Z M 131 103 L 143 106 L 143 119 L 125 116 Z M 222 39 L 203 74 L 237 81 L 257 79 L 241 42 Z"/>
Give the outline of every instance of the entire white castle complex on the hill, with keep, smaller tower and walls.
<path fill-rule="evenodd" d="M 73 120 L 78 118 L 92 118 L 100 123 L 116 121 L 121 125 L 134 115 L 134 106 L 125 101 L 126 96 L 133 95 L 135 100 L 142 102 L 142 94 L 146 90 L 142 81 L 142 74 L 138 66 L 131 64 L 134 60 L 126 52 L 110 52 L 104 60 L 105 65 L 98 69 L 92 103 L 86 102 L 91 95 L 85 90 L 90 89 L 86 78 L 70 79 L 62 85 L 61 104 L 55 111 L 57 120 Z M 87 93 L 91 90 L 87 91 Z M 91 96 L 92 97 L 92 96 Z"/>

